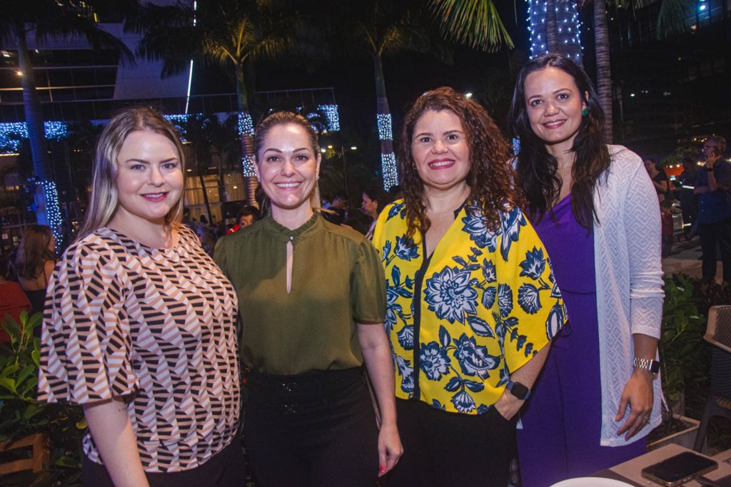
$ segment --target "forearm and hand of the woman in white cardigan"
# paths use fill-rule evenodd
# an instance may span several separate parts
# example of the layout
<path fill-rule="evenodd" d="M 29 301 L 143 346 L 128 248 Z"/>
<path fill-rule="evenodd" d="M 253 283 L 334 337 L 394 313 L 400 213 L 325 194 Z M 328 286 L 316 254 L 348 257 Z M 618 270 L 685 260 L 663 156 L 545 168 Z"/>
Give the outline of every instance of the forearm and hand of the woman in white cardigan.
<path fill-rule="evenodd" d="M 632 339 L 635 341 L 635 357 L 646 358 L 648 360 L 654 360 L 657 353 L 657 339 L 648 337 L 648 335 L 634 334 Z M 624 391 L 622 391 L 622 399 L 619 402 L 617 415 L 614 421 L 621 421 L 626 413 L 627 406 L 629 405 L 629 416 L 627 421 L 620 429 L 617 430 L 617 434 L 624 434 L 626 432 L 625 440 L 629 440 L 640 429 L 650 421 L 650 413 L 652 412 L 653 402 L 653 390 L 652 381 L 655 379 L 655 375 L 649 370 L 645 369 L 634 369 L 632 371 L 632 377 L 629 377 Z"/>

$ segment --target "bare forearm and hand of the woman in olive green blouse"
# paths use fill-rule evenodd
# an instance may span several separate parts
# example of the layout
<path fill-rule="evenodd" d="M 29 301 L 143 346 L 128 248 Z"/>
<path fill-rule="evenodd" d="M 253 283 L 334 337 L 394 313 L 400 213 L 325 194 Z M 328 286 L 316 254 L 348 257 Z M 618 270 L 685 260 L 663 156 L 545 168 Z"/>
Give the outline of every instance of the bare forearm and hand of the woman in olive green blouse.
<path fill-rule="evenodd" d="M 379 476 L 395 467 L 404 447 L 396 427 L 396 400 L 393 385 L 393 357 L 382 323 L 357 323 L 358 342 L 363 350 L 368 377 L 376 393 L 381 413 L 381 430 L 378 435 Z"/>

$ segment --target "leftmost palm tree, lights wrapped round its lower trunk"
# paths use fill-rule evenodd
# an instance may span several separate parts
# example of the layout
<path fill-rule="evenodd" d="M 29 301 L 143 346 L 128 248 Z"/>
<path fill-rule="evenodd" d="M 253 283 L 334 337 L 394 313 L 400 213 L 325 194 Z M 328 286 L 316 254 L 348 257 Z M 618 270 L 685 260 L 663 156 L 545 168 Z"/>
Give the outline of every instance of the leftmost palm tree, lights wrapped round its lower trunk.
<path fill-rule="evenodd" d="M 45 185 L 48 174 L 48 156 L 46 152 L 43 115 L 33 77 L 33 64 L 28 50 L 28 38 L 33 35 L 37 45 L 49 39 L 62 37 L 83 37 L 94 47 L 116 50 L 121 61 L 134 62 L 134 55 L 124 42 L 104 31 L 94 22 L 94 11 L 118 13 L 129 12 L 136 2 L 124 0 L 106 2 L 86 0 L 75 2 L 70 0 L 7 0 L 4 2 L 3 14 L 0 16 L 0 44 L 15 47 L 18 50 L 18 67 L 23 85 L 23 107 L 31 145 L 34 175 Z M 109 5 L 113 4 L 113 5 Z M 46 196 L 40 194 L 39 196 Z M 39 223 L 46 223 L 44 204 L 39 205 L 37 218 Z M 57 210 L 56 210 L 57 211 Z M 53 222 L 52 222 L 53 223 Z"/>

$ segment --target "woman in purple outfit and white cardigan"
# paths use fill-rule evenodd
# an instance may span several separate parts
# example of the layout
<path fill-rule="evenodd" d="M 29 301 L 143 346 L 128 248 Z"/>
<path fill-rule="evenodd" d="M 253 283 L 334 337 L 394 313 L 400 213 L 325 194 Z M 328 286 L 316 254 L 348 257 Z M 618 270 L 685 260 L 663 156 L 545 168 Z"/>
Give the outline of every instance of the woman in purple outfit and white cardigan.
<path fill-rule="evenodd" d="M 509 117 L 569 317 L 518 432 L 523 485 L 547 486 L 640 455 L 660 421 L 660 215 L 642 160 L 605 145 L 596 91 L 568 58 L 529 61 Z"/>

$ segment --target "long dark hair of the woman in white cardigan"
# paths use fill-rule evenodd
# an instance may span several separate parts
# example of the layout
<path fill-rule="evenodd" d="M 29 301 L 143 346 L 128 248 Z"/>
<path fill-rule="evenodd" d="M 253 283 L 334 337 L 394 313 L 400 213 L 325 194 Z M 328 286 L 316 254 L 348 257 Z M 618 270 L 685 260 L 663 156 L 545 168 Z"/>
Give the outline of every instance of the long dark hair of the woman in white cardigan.
<path fill-rule="evenodd" d="M 596 218 L 594 189 L 599 177 L 610 164 L 609 150 L 602 135 L 605 116 L 594 85 L 586 72 L 562 55 L 539 56 L 523 66 L 518 74 L 508 113 L 510 134 L 520 139 L 520 154 L 515 165 L 518 185 L 526 196 L 526 212 L 537 221 L 558 203 L 558 194 L 561 192 L 561 178 L 557 175 L 558 161 L 548 153 L 545 142 L 531 129 L 526 110 L 526 78 L 529 74 L 548 67 L 561 69 L 569 74 L 582 97 L 584 93 L 588 93 L 588 99 L 584 99 L 588 113 L 581 119 L 572 147 L 576 160 L 571 169 L 571 210 L 576 221 L 591 230 Z"/>

